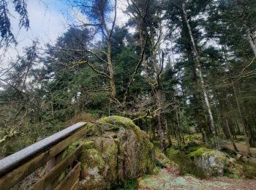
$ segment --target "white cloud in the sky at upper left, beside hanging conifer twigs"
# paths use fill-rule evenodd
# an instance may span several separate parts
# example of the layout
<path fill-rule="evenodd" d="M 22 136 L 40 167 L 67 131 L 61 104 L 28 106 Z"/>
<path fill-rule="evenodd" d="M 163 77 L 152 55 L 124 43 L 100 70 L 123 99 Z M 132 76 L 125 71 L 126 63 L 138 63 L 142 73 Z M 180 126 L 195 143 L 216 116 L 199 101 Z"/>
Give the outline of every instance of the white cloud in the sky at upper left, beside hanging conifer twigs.
<path fill-rule="evenodd" d="M 45 5 L 46 4 L 46 5 Z M 65 31 L 66 20 L 59 7 L 48 5 L 48 1 L 43 4 L 41 1 L 28 1 L 28 12 L 30 28 L 18 28 L 18 15 L 10 7 L 10 12 L 15 17 L 11 17 L 12 32 L 18 41 L 18 45 L 9 47 L 7 52 L 0 50 L 0 61 L 4 63 L 1 67 L 6 67 L 10 60 L 15 60 L 18 53 L 22 53 L 23 47 L 31 45 L 34 39 L 38 39 L 40 45 L 54 43 L 61 33 Z M 51 4 L 53 5 L 53 4 Z"/>

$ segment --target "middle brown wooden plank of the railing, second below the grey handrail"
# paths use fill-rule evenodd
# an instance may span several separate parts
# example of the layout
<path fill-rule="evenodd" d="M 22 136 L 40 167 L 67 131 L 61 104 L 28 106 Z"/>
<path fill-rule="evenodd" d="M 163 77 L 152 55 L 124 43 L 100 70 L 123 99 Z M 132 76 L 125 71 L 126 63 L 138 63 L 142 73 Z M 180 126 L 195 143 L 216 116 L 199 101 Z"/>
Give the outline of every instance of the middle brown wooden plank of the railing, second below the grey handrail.
<path fill-rule="evenodd" d="M 81 153 L 83 145 L 80 145 L 72 153 L 70 153 L 66 158 L 62 159 L 56 167 L 53 167 L 53 170 L 50 170 L 48 174 L 44 175 L 37 183 L 30 188 L 30 190 L 44 190 L 49 183 L 52 183 L 53 180 L 58 178 L 58 176 L 63 172 L 76 157 Z"/>

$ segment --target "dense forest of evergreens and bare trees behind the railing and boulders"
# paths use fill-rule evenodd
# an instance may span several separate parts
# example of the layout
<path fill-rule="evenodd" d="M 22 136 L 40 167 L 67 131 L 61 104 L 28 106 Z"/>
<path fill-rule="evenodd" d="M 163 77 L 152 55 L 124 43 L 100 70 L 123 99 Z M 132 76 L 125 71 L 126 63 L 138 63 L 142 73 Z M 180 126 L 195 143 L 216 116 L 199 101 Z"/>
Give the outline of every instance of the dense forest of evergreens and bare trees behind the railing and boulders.
<path fill-rule="evenodd" d="M 30 27 L 29 1 L 0 1 L 3 55 L 18 45 L 12 11 L 20 30 Z M 214 150 L 255 179 L 255 0 L 65 3 L 80 12 L 78 22 L 54 43 L 33 39 L 2 61 L 1 159 L 78 121 L 118 115 L 148 134 L 159 168 L 165 155 L 181 173 L 201 178 L 194 156 Z"/>

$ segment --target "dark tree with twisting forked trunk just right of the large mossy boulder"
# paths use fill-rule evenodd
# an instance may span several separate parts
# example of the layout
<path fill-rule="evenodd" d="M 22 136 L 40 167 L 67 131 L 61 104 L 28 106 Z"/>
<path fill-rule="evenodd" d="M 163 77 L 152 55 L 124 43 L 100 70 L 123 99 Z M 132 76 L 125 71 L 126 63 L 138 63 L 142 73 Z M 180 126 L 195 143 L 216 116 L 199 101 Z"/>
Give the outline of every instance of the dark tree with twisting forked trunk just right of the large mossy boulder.
<path fill-rule="evenodd" d="M 129 1 L 128 1 L 129 2 Z M 162 18 L 159 1 L 131 1 L 129 12 L 132 20 L 139 30 L 141 58 L 138 66 L 143 64 L 146 81 L 151 86 L 157 109 L 155 113 L 158 118 L 158 134 L 162 151 L 166 151 L 165 145 L 165 123 L 162 114 L 163 102 L 161 97 L 161 77 L 164 66 L 165 53 L 160 50 L 162 42 Z M 147 52 L 147 53 L 146 53 Z"/>

